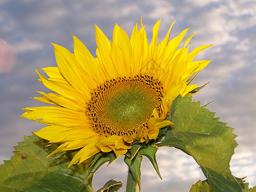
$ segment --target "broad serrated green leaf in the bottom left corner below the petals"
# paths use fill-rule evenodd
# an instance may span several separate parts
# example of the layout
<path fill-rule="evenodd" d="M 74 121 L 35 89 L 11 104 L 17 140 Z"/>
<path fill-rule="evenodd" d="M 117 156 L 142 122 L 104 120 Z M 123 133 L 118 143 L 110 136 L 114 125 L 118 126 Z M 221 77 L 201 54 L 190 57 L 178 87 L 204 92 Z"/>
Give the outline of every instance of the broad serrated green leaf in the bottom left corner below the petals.
<path fill-rule="evenodd" d="M 46 159 L 56 145 L 47 148 L 38 136 L 24 136 L 15 146 L 14 156 L 0 165 L 0 191 L 93 191 L 92 179 L 83 183 L 88 165 L 67 169 L 74 154 Z"/>

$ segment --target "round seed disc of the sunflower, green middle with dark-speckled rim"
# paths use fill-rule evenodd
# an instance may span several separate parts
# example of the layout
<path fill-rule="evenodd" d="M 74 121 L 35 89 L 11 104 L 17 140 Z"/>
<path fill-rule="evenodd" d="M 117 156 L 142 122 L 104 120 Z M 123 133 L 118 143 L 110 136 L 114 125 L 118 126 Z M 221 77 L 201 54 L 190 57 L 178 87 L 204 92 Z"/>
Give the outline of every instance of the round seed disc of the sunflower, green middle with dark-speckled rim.
<path fill-rule="evenodd" d="M 86 114 L 99 134 L 131 135 L 147 126 L 155 108 L 160 109 L 162 93 L 162 84 L 153 77 L 112 79 L 92 93 Z"/>

